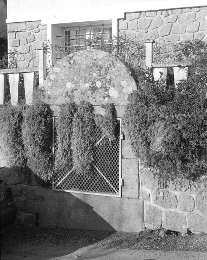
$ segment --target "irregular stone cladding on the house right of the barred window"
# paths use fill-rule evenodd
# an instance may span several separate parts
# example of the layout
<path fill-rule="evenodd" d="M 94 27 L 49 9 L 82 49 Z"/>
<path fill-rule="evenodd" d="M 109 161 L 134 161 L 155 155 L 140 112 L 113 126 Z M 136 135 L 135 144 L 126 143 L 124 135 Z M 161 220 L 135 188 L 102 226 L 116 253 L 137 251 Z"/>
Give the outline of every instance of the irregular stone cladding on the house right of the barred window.
<path fill-rule="evenodd" d="M 207 7 L 126 13 L 119 20 L 119 34 L 138 40 L 207 42 Z"/>

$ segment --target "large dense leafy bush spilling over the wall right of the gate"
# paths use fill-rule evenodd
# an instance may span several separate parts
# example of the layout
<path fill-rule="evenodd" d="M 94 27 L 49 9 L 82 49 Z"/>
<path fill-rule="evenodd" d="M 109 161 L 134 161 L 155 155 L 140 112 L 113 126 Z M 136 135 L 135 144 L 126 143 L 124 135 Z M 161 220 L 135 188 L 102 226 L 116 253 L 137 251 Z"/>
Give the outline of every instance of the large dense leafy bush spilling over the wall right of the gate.
<path fill-rule="evenodd" d="M 124 122 L 131 145 L 165 187 L 207 173 L 207 51 L 194 57 L 178 87 L 140 82 Z"/>

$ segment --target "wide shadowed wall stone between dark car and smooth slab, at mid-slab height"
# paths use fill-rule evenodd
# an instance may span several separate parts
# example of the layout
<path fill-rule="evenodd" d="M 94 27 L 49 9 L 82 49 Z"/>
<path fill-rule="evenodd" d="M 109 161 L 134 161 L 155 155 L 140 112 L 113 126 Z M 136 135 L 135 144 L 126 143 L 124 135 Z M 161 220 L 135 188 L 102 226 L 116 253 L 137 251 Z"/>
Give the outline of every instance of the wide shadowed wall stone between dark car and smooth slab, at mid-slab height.
<path fill-rule="evenodd" d="M 37 203 L 27 198 L 16 198 L 16 206 L 18 211 L 22 211 L 24 213 L 38 213 Z"/>

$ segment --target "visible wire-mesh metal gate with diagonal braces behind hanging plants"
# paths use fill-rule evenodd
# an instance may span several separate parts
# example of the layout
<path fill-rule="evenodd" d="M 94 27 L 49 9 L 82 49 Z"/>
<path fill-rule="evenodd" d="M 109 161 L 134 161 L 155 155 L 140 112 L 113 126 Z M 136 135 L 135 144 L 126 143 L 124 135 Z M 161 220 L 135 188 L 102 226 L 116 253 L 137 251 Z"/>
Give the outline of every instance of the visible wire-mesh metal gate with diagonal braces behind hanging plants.
<path fill-rule="evenodd" d="M 101 129 L 96 126 L 94 161 L 90 176 L 76 174 L 74 167 L 68 172 L 57 170 L 53 180 L 53 190 L 121 197 L 121 123 L 121 118 L 117 118 L 116 139 L 111 144 L 106 136 L 102 136 Z M 54 159 L 57 147 L 56 117 L 53 117 Z"/>

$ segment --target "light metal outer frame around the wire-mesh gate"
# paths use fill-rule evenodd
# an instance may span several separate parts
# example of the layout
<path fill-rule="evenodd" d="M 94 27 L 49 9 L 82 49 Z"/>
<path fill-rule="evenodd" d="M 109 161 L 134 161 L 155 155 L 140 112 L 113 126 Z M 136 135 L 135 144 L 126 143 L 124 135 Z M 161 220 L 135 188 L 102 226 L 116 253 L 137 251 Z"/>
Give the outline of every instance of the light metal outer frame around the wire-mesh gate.
<path fill-rule="evenodd" d="M 55 152 L 55 124 L 54 119 L 56 119 L 57 116 L 52 117 L 52 153 L 53 153 L 53 163 L 54 163 L 54 152 Z M 96 195 L 96 196 L 108 196 L 108 197 L 122 197 L 122 140 L 123 140 L 123 133 L 122 133 L 122 118 L 116 117 L 116 120 L 119 120 L 120 127 L 119 127 L 119 193 L 118 194 L 105 194 L 105 193 L 94 193 L 94 192 L 84 192 L 84 191 L 76 191 L 76 190 L 67 190 L 67 189 L 56 189 L 54 185 L 54 181 L 52 182 L 52 190 L 55 191 L 62 191 L 62 192 L 70 192 L 70 193 L 80 193 L 80 194 L 89 194 L 89 195 Z"/>

